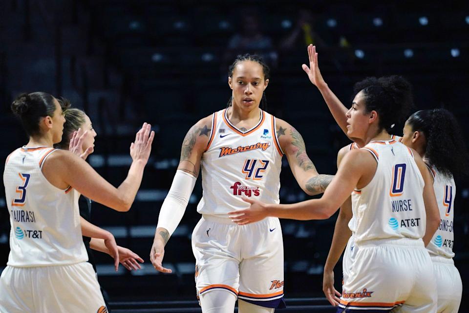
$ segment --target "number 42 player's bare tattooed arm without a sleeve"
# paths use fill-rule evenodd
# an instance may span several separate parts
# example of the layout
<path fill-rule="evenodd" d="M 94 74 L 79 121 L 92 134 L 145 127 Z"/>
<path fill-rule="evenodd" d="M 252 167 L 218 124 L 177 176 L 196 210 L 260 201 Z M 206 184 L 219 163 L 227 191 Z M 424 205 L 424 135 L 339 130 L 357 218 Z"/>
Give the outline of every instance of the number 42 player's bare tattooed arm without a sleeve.
<path fill-rule="evenodd" d="M 306 154 L 303 137 L 287 122 L 277 119 L 277 138 L 301 189 L 308 195 L 323 193 L 334 176 L 319 174 Z"/>

